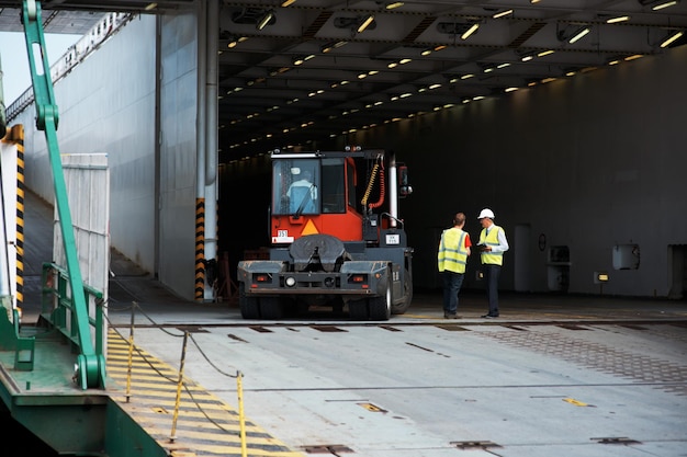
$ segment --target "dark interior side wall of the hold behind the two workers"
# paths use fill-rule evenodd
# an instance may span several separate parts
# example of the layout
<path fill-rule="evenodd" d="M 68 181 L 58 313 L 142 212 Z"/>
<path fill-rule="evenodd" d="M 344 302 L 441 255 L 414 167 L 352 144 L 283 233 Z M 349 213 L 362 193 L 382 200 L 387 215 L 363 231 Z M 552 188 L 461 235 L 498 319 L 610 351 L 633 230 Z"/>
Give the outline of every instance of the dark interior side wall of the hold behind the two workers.
<path fill-rule="evenodd" d="M 394 149 L 415 193 L 402 202 L 417 287 L 437 287 L 436 239 L 458 210 L 480 233 L 482 207 L 511 243 L 503 288 L 515 289 L 515 227 L 528 225 L 532 290 L 547 292 L 548 250 L 567 245 L 571 293 L 667 296 L 668 244 L 687 243 L 687 46 L 510 96 L 425 115 L 348 140 Z M 545 236 L 544 250 L 539 237 Z M 637 243 L 638 270 L 613 270 L 616 244 Z M 471 259 L 465 287 L 475 281 Z"/>

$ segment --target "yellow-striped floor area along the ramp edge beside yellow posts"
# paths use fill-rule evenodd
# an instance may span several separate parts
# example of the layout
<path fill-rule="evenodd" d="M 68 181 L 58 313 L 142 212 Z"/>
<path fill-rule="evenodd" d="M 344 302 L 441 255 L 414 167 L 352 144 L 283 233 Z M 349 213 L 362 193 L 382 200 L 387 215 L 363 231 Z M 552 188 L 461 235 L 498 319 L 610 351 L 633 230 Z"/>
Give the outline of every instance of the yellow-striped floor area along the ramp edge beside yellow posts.
<path fill-rule="evenodd" d="M 108 377 L 120 387 L 111 399 L 170 456 L 241 457 L 238 412 L 224 400 L 184 378 L 176 429 L 174 404 L 179 373 L 138 346 L 132 352 L 128 376 L 128 342 L 116 331 L 108 332 Z M 128 395 L 127 395 L 128 393 Z M 128 399 L 127 399 L 128 397 Z M 264 430 L 245 419 L 246 450 L 252 457 L 302 457 Z M 172 439 L 172 430 L 174 431 Z"/>

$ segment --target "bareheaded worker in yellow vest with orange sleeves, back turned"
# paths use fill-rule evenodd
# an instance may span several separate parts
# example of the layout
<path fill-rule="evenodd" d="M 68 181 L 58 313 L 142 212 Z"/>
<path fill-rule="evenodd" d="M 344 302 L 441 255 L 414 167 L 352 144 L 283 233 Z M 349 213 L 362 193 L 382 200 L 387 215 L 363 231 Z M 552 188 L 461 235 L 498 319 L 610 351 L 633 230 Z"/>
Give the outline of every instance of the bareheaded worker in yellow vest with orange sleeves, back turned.
<path fill-rule="evenodd" d="M 439 272 L 443 276 L 443 317 L 459 319 L 458 295 L 463 284 L 465 264 L 470 255 L 470 235 L 463 231 L 465 215 L 458 213 L 453 217 L 453 227 L 443 230 L 439 241 L 437 260 Z"/>

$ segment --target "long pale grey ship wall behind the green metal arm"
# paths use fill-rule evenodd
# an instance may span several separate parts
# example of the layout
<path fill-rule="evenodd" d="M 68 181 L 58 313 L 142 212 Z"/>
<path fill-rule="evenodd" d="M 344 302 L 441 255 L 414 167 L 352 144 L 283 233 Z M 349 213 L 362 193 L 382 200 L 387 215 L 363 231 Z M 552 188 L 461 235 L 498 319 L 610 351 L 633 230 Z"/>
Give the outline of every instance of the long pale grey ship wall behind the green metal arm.
<path fill-rule="evenodd" d="M 108 153 L 112 245 L 153 272 L 155 18 L 140 16 L 105 41 L 55 82 L 55 99 L 60 151 Z M 34 113 L 32 105 L 19 121 L 26 128 L 26 185 L 52 202 L 45 136 L 35 130 Z"/>

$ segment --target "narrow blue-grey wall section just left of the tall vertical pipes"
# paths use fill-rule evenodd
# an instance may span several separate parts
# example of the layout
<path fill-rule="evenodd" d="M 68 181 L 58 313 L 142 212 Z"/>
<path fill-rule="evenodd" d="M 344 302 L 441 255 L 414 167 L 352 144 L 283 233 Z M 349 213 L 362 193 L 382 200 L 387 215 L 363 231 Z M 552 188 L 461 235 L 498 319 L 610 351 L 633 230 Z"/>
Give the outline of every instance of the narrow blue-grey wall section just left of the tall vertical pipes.
<path fill-rule="evenodd" d="M 161 18 L 159 278 L 193 299 L 195 282 L 196 19 Z"/>

